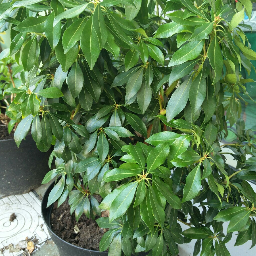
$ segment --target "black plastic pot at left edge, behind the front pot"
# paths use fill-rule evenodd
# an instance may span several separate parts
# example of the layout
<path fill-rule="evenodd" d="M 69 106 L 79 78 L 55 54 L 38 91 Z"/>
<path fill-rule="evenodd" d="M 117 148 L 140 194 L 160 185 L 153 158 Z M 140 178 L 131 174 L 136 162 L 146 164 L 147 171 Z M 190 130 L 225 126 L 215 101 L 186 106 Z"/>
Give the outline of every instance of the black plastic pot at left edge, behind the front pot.
<path fill-rule="evenodd" d="M 18 195 L 41 185 L 50 170 L 46 153 L 37 149 L 31 135 L 17 147 L 14 139 L 0 141 L 0 197 Z"/>

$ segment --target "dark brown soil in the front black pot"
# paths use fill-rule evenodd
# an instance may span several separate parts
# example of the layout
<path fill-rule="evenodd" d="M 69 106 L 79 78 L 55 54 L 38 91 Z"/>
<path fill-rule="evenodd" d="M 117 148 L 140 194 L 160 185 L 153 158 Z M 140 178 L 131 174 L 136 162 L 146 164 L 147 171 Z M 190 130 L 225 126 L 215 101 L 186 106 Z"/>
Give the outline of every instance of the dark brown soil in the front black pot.
<path fill-rule="evenodd" d="M 68 243 L 99 251 L 99 243 L 104 230 L 94 220 L 88 219 L 85 214 L 82 214 L 77 222 L 75 214 L 70 215 L 68 200 L 60 205 L 59 208 L 57 208 L 57 202 L 55 202 L 50 222 L 52 231 Z"/>

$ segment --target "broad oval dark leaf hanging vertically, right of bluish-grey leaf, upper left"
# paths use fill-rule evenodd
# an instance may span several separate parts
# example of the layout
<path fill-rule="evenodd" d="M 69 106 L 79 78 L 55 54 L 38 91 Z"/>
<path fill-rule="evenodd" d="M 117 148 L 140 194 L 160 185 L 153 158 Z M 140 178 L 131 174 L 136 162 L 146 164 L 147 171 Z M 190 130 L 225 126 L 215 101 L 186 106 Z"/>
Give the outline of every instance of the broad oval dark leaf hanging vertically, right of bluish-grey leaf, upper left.
<path fill-rule="evenodd" d="M 80 94 L 83 87 L 83 72 L 78 61 L 72 65 L 67 77 L 68 88 L 74 99 Z"/>

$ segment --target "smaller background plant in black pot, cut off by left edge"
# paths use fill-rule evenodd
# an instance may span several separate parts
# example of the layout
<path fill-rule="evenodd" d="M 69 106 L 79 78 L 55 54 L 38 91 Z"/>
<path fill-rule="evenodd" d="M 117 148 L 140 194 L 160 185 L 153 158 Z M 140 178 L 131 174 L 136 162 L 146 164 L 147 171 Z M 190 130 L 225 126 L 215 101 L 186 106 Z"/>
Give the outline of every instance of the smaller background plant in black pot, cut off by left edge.
<path fill-rule="evenodd" d="M 2 51 L 0 57 L 0 197 L 3 197 L 37 188 L 49 171 L 50 153 L 39 151 L 31 134 L 17 148 L 14 132 L 26 113 L 23 105 L 15 104 L 14 97 L 20 91 L 17 88 L 22 88 L 19 75 L 22 77 L 24 71 L 22 65 L 9 56 L 9 49 Z"/>

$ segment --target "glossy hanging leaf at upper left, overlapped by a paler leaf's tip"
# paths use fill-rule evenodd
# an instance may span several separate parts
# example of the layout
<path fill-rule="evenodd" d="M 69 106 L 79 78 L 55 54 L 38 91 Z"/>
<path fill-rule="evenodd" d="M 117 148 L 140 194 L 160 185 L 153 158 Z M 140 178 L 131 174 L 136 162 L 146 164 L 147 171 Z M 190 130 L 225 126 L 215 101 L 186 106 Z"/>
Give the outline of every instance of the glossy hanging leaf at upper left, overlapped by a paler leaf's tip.
<path fill-rule="evenodd" d="M 54 12 L 52 12 L 48 16 L 44 25 L 44 32 L 45 32 L 46 38 L 53 51 L 57 46 L 61 36 L 61 23 L 58 22 L 55 26 L 53 26 L 54 18 L 55 18 L 55 14 Z"/>

